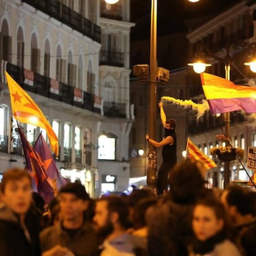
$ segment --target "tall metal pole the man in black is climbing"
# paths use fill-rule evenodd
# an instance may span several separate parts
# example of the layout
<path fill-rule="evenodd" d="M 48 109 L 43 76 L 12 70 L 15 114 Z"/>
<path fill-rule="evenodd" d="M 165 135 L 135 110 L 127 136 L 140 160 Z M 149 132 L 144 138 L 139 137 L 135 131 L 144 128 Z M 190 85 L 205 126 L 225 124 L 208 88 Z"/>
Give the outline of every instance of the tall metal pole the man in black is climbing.
<path fill-rule="evenodd" d="M 151 0 L 151 29 L 150 29 L 150 90 L 148 109 L 148 135 L 156 139 L 156 18 L 157 0 Z M 156 188 L 156 148 L 149 143 L 147 185 Z"/>

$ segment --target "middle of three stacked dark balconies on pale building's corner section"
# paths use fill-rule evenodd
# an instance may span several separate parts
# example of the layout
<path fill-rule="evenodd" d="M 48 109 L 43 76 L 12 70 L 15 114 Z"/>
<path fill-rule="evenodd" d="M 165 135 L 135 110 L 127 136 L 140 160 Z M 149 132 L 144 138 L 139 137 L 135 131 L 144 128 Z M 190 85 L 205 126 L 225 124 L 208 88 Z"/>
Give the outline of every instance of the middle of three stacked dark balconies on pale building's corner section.
<path fill-rule="evenodd" d="M 124 53 L 100 51 L 100 65 L 124 67 Z"/>

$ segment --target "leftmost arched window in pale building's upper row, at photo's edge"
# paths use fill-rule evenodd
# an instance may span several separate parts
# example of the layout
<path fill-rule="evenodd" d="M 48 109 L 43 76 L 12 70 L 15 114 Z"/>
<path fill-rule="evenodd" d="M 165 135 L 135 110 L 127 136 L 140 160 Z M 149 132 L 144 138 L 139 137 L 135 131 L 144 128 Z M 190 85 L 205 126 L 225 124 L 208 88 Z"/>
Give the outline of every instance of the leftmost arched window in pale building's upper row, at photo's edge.
<path fill-rule="evenodd" d="M 9 36 L 9 27 L 6 20 L 2 21 L 0 33 L 0 59 L 11 62 L 12 57 L 12 37 Z"/>

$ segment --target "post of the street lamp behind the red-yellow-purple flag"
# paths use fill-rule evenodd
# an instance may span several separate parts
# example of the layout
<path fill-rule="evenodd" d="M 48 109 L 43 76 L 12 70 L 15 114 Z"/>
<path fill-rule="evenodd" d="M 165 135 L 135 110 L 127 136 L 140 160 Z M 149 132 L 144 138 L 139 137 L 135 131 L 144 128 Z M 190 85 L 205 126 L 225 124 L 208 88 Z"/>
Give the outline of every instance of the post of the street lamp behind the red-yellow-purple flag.
<path fill-rule="evenodd" d="M 225 78 L 230 80 L 230 62 L 226 61 L 225 63 Z M 230 113 L 224 113 L 224 124 L 226 137 L 229 140 L 230 138 Z M 228 146 L 228 145 L 226 145 Z M 230 166 L 229 161 L 224 161 L 224 188 L 229 186 L 230 180 Z"/>

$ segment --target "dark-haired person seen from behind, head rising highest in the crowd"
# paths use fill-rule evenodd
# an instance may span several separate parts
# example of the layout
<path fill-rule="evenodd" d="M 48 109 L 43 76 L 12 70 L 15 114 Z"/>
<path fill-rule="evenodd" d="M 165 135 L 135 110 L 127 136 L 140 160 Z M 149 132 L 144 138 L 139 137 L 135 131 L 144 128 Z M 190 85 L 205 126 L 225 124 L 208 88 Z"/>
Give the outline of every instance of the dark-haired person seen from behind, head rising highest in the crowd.
<path fill-rule="evenodd" d="M 211 194 L 196 163 L 184 160 L 171 171 L 171 190 L 148 208 L 149 255 L 188 255 L 192 239 L 192 209 L 198 198 Z"/>

